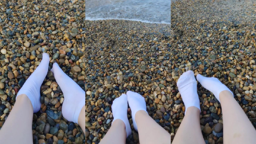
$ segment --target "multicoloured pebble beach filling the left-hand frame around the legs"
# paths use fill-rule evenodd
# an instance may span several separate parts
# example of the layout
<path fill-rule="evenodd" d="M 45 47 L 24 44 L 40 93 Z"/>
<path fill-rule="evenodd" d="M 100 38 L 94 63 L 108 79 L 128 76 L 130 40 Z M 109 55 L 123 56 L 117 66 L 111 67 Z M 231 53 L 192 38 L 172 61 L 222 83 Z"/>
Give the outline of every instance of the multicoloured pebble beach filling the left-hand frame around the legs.
<path fill-rule="evenodd" d="M 78 124 L 62 117 L 63 93 L 50 71 L 54 62 L 85 89 L 85 3 L 16 0 L 0 2 L 0 128 L 26 79 L 50 55 L 40 89 L 41 109 L 33 115 L 34 144 L 83 144 Z M 22 139 L 21 139 L 22 140 Z"/>

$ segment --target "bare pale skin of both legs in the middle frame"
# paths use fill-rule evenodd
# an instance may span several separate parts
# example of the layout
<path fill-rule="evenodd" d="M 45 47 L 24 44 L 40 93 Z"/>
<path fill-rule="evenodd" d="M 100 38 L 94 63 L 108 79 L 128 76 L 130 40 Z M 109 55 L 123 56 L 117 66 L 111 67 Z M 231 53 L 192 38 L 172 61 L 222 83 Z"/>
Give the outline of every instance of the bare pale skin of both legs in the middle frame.
<path fill-rule="evenodd" d="M 135 114 L 140 144 L 171 144 L 171 135 L 144 110 Z M 122 120 L 115 120 L 100 144 L 125 144 L 126 130 Z"/>

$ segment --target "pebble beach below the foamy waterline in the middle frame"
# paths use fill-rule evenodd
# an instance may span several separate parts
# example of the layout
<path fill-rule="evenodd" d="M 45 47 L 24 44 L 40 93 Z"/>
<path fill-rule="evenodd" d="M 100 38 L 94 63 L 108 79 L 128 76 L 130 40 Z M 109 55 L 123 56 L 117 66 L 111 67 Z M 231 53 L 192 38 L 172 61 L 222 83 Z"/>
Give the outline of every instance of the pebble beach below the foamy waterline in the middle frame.
<path fill-rule="evenodd" d="M 85 140 L 99 143 L 113 120 L 111 104 L 126 91 L 141 94 L 149 115 L 171 134 L 169 24 L 85 21 Z M 139 143 L 133 129 L 126 143 Z"/>

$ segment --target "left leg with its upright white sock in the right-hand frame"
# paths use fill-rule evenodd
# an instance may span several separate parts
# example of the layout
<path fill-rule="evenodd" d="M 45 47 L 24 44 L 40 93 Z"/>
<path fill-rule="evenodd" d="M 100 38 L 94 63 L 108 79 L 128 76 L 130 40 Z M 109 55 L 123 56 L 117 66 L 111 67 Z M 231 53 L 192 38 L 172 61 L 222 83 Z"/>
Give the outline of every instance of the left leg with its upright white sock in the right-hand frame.
<path fill-rule="evenodd" d="M 186 107 L 185 116 L 172 141 L 173 144 L 204 144 L 200 128 L 200 101 L 194 72 L 187 71 L 177 82 L 178 90 Z"/>

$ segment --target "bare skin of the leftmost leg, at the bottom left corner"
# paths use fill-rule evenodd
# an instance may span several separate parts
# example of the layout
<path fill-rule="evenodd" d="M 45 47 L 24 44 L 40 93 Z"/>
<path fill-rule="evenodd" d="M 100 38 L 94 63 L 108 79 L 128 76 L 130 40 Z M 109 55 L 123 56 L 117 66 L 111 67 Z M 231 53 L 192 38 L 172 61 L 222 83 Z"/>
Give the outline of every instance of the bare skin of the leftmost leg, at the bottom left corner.
<path fill-rule="evenodd" d="M 0 130 L 0 142 L 33 144 L 32 119 L 31 101 L 25 94 L 22 94 L 17 97 L 14 107 Z"/>

